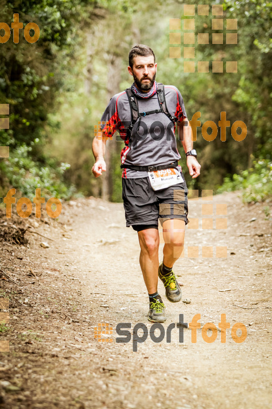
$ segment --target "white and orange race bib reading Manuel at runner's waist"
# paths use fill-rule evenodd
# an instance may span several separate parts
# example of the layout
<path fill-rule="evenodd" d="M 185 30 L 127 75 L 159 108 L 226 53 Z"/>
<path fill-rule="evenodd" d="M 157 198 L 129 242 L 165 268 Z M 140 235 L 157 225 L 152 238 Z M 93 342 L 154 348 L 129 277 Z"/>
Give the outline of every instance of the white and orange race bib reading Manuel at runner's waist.
<path fill-rule="evenodd" d="M 177 185 L 183 182 L 183 178 L 180 172 L 181 167 L 178 169 L 162 169 L 155 172 L 147 172 L 149 174 L 149 180 L 153 190 L 160 190 L 168 188 L 172 185 Z"/>

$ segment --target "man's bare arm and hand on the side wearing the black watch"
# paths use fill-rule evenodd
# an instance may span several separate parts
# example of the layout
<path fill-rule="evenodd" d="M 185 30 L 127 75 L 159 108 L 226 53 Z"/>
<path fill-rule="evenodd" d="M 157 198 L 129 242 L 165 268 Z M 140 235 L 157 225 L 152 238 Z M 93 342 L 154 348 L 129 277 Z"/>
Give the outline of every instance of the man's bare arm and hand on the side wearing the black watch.
<path fill-rule="evenodd" d="M 183 122 L 177 122 L 179 128 L 179 140 L 182 142 L 183 148 L 185 153 L 193 148 L 193 139 L 192 139 L 192 128 L 187 120 L 184 119 Z M 196 157 L 194 156 L 187 156 L 187 166 L 189 169 L 189 173 L 192 178 L 195 178 L 200 175 L 200 164 L 197 162 Z"/>

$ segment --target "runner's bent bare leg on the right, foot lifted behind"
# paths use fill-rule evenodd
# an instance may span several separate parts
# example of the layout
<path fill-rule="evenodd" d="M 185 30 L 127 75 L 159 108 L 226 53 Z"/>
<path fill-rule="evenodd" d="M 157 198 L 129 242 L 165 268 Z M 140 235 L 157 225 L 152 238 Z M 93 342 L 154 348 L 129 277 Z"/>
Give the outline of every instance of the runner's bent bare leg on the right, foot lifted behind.
<path fill-rule="evenodd" d="M 185 221 L 168 219 L 162 223 L 163 229 L 163 264 L 172 267 L 180 258 L 184 248 Z"/>

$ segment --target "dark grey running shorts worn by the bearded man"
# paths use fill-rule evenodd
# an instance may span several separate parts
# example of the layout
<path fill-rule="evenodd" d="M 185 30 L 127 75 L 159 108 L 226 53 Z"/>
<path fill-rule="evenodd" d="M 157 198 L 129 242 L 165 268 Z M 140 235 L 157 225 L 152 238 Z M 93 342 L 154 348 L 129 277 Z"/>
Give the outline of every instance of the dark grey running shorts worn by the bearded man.
<path fill-rule="evenodd" d="M 167 219 L 188 223 L 188 189 L 183 182 L 161 190 L 153 190 L 148 177 L 122 178 L 122 199 L 127 227 L 136 224 L 162 224 Z"/>

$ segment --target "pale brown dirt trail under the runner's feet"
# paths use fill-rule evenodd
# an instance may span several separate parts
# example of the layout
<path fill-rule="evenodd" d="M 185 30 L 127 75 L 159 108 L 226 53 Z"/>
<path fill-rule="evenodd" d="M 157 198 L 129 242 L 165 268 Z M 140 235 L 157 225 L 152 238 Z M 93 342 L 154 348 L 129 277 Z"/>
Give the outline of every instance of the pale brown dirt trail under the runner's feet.
<path fill-rule="evenodd" d="M 24 221 L 54 241 L 27 233 L 29 248 L 2 242 L 1 268 L 17 284 L 1 280 L 0 295 L 10 298 L 10 329 L 0 335 L 10 352 L 0 353 L 0 407 L 270 408 L 271 218 L 263 204 L 243 206 L 237 193 L 190 201 L 190 218 L 201 219 L 202 205 L 212 203 L 214 229 L 201 229 L 201 220 L 199 229 L 187 229 L 185 257 L 175 264 L 190 303 L 169 303 L 160 282 L 165 337 L 155 343 L 149 333 L 137 352 L 132 339 L 116 343 L 118 323 L 131 323 L 131 334 L 138 323 L 152 326 L 138 238 L 125 227 L 122 203 L 80 199 L 63 206 L 58 220 L 43 216 L 37 223 L 32 215 Z M 215 215 L 219 203 L 227 204 L 226 216 Z M 215 229 L 216 217 L 227 218 L 227 229 Z M 187 246 L 199 246 L 200 257 L 188 258 Z M 213 246 L 214 257 L 201 257 L 202 246 Z M 215 257 L 216 246 L 227 246 L 226 258 Z M 207 343 L 197 329 L 192 343 L 192 331 L 184 329 L 181 343 L 176 325 L 166 343 L 166 328 L 179 314 L 189 323 L 197 313 L 202 326 L 217 328 L 225 313 L 231 328 L 246 326 L 246 339 L 235 343 L 230 328 L 225 344 L 219 331 Z M 113 342 L 94 337 L 98 323 L 113 328 L 102 335 Z"/>

